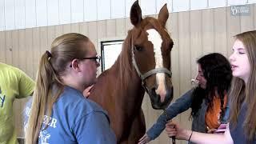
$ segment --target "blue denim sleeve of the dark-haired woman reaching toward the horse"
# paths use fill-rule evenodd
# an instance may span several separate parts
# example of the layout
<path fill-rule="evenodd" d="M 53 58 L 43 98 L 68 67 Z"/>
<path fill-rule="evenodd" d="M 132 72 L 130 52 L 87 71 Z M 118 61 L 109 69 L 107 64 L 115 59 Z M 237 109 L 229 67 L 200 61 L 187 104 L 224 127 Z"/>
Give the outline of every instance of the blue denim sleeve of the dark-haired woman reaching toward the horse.
<path fill-rule="evenodd" d="M 181 114 L 190 108 L 192 102 L 192 93 L 193 90 L 187 91 L 186 94 L 183 94 L 181 98 L 178 98 L 172 105 L 168 106 L 166 109 L 168 116 L 167 120 L 176 117 L 178 114 Z M 154 123 L 154 125 L 150 128 L 150 130 L 146 132 L 146 134 L 149 136 L 150 140 L 152 140 L 157 138 L 165 128 L 166 115 L 161 114 L 157 122 Z"/>

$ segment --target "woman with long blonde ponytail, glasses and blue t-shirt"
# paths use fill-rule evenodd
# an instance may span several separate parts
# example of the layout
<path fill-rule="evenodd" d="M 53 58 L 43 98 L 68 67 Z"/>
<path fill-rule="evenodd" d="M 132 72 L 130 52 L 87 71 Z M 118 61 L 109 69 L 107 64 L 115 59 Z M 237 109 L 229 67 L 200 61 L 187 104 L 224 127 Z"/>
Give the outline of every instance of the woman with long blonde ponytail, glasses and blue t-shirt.
<path fill-rule="evenodd" d="M 26 106 L 26 144 L 116 143 L 105 110 L 83 97 L 96 81 L 100 57 L 82 34 L 64 34 L 42 54 L 32 101 Z"/>

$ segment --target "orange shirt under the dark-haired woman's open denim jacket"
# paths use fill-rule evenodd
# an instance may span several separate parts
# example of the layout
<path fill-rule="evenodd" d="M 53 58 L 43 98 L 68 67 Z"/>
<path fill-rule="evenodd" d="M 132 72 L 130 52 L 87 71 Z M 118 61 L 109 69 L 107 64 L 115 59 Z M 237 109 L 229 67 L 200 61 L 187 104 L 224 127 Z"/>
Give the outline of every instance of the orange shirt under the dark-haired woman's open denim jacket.
<path fill-rule="evenodd" d="M 224 96 L 224 105 L 226 107 L 227 96 Z M 213 99 L 213 107 L 210 106 L 207 108 L 206 111 L 206 126 L 209 129 L 217 129 L 218 126 L 221 124 L 220 116 L 221 116 L 221 99 L 214 96 Z"/>

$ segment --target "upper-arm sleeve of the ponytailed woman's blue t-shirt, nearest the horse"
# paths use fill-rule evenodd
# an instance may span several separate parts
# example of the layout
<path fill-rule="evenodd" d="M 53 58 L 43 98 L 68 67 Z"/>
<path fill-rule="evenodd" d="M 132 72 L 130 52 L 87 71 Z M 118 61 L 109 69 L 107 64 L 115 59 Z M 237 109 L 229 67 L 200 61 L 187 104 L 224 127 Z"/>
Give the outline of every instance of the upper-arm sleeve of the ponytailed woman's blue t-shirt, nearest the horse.
<path fill-rule="evenodd" d="M 78 143 L 113 144 L 116 138 L 110 122 L 102 111 L 93 111 L 84 116 L 74 126 Z"/>

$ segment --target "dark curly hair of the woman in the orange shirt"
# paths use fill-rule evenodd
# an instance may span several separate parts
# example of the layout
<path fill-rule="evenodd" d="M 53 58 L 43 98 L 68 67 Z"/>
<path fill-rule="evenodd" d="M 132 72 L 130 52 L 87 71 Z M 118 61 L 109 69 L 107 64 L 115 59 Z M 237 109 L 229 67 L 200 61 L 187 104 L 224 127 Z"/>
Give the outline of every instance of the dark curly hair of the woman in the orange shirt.
<path fill-rule="evenodd" d="M 211 107 L 213 105 L 215 92 L 217 92 L 221 99 L 222 121 L 225 114 L 223 108 L 224 96 L 230 89 L 232 80 L 230 62 L 222 54 L 212 53 L 199 58 L 197 63 L 201 66 L 203 76 L 206 78 L 206 89 L 202 89 L 200 86 L 194 88 L 191 116 L 194 117 L 198 113 L 203 99 L 206 99 L 206 104 Z"/>

